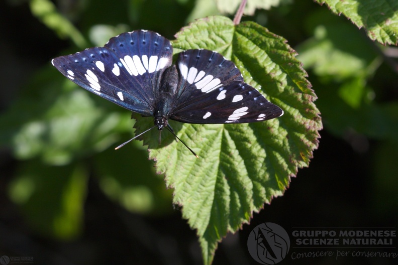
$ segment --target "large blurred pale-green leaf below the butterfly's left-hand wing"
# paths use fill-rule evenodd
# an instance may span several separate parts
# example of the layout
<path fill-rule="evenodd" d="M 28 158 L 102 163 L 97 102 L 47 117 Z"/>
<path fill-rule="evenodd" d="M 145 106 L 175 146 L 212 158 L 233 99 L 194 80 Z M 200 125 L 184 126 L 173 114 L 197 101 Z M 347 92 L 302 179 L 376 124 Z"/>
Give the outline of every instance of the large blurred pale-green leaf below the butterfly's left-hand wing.
<path fill-rule="evenodd" d="M 30 89 L 0 116 L 0 144 L 11 146 L 18 159 L 39 157 L 46 164 L 66 165 L 131 131 L 128 112 L 118 112 L 123 109 L 61 77 L 52 66 L 38 72 Z"/>

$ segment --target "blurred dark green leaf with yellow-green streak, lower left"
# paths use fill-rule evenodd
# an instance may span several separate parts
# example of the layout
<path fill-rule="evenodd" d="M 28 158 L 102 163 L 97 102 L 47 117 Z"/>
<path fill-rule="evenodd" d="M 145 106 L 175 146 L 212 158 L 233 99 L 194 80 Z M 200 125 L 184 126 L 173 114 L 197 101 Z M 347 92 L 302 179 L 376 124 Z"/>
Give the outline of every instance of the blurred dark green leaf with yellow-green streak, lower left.
<path fill-rule="evenodd" d="M 9 185 L 9 197 L 40 233 L 73 239 L 83 225 L 87 174 L 81 165 L 44 166 L 25 162 Z"/>

